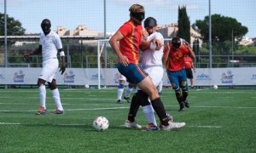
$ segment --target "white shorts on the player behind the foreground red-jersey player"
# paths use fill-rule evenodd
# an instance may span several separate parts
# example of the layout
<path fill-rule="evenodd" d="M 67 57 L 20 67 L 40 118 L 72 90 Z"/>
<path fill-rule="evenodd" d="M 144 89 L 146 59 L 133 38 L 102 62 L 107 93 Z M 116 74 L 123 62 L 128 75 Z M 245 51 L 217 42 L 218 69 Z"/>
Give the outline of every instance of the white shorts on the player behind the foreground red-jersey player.
<path fill-rule="evenodd" d="M 148 73 L 148 76 L 151 77 L 154 86 L 157 87 L 160 85 L 162 78 L 164 77 L 164 69 L 162 66 L 149 66 L 143 69 Z M 139 90 L 140 88 L 136 88 Z"/>

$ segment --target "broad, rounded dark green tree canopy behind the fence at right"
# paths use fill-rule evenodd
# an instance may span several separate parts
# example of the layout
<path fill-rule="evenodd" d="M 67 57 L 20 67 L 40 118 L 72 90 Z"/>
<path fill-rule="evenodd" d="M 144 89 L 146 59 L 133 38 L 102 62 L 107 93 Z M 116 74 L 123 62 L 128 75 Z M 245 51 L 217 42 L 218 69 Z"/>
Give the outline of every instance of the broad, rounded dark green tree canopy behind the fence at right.
<path fill-rule="evenodd" d="M 195 20 L 193 27 L 197 26 L 201 32 L 203 40 L 209 40 L 209 16 L 204 20 Z M 241 23 L 234 18 L 212 14 L 212 40 L 218 42 L 241 40 L 247 34 L 247 27 L 241 26 Z"/>

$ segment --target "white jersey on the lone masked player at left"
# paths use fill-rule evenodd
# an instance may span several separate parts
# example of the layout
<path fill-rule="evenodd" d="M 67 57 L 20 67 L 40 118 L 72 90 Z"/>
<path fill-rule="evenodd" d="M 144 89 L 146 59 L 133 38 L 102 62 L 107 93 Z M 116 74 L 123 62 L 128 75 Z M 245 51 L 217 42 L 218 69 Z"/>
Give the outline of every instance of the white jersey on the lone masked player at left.
<path fill-rule="evenodd" d="M 39 44 L 42 45 L 43 60 L 57 59 L 58 49 L 62 48 L 62 43 L 55 31 L 50 31 L 46 36 L 41 33 Z"/>

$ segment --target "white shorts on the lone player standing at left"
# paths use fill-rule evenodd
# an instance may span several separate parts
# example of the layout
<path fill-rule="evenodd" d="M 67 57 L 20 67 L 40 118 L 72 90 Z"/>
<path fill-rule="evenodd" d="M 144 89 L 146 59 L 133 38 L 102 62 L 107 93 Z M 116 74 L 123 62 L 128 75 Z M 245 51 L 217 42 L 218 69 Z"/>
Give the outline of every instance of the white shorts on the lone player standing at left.
<path fill-rule="evenodd" d="M 58 59 L 47 59 L 43 61 L 43 70 L 39 78 L 45 80 L 46 82 L 52 82 L 55 78 L 55 73 L 58 71 L 59 60 Z"/>

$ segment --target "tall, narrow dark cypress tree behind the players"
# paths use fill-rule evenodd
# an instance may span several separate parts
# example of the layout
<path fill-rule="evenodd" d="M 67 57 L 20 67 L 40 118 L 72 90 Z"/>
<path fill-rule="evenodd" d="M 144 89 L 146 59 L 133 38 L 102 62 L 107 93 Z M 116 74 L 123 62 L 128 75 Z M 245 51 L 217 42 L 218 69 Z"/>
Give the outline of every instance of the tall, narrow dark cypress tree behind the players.
<path fill-rule="evenodd" d="M 186 7 L 178 7 L 178 20 L 177 20 L 177 37 L 182 37 L 190 43 L 190 20 L 187 15 Z"/>

